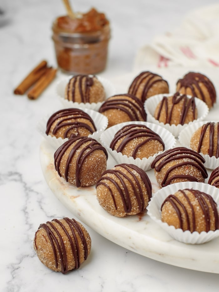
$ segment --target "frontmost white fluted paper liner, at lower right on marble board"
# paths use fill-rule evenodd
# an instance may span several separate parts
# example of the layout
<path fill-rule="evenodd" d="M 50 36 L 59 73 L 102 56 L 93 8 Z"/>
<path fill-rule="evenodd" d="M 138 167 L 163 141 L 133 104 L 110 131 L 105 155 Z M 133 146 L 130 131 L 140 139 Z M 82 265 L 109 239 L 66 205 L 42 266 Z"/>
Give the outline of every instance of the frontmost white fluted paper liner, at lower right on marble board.
<path fill-rule="evenodd" d="M 215 202 L 217 203 L 217 210 L 219 212 L 219 189 L 213 187 L 209 184 L 202 182 L 178 182 L 172 185 L 163 187 L 157 191 L 151 198 L 147 206 L 147 214 L 153 219 L 157 224 L 160 225 L 171 237 L 174 239 L 190 244 L 201 244 L 208 242 L 219 236 L 219 230 L 205 232 L 202 231 L 198 233 L 197 231 L 191 233 L 189 230 L 183 231 L 181 228 L 175 228 L 174 226 L 169 226 L 167 223 L 161 221 L 161 211 L 160 207 L 166 197 L 170 194 L 174 194 L 178 190 L 183 190 L 186 188 L 193 188 L 194 190 L 199 190 L 211 195 Z"/>

